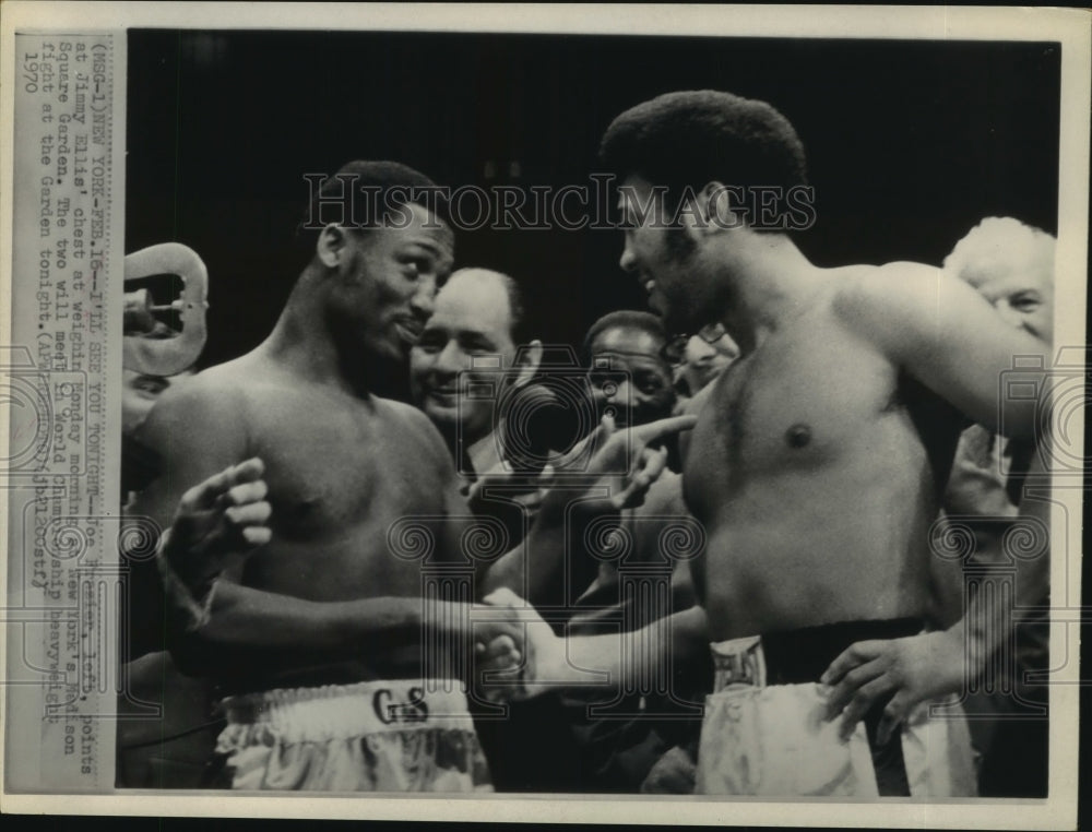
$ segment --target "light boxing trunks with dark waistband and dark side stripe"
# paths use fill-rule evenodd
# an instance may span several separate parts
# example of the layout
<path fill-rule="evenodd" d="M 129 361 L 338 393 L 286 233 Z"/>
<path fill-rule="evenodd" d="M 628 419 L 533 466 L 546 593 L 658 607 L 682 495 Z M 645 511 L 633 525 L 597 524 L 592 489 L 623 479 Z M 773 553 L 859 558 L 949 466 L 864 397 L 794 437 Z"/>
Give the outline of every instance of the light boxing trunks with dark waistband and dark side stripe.
<path fill-rule="evenodd" d="M 880 745 L 886 701 L 847 741 L 827 721 L 819 677 L 857 641 L 921 632 L 919 621 L 855 621 L 711 645 L 713 693 L 698 750 L 698 794 L 964 797 L 975 794 L 971 740 L 956 697 L 922 702 Z M 943 704 L 929 716 L 929 705 Z"/>

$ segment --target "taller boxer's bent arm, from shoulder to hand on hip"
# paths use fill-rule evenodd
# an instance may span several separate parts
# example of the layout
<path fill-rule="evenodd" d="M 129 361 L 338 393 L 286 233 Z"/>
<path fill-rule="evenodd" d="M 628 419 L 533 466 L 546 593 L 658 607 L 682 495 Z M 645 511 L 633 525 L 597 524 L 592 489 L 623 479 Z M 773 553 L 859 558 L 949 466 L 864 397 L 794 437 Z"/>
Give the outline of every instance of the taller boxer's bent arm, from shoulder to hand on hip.
<path fill-rule="evenodd" d="M 869 343 L 966 416 L 1008 436 L 1043 439 L 1037 436 L 1042 394 L 1013 399 L 1005 395 L 1001 382 L 1008 373 L 1042 391 L 1048 381 L 1049 345 L 1013 330 L 962 281 L 939 270 L 894 264 L 859 281 L 840 302 Z M 1017 356 L 1041 369 L 1012 372 Z M 1036 473 L 1045 474 L 1038 451 Z M 1045 598 L 1049 560 L 1044 513 L 1044 503 L 1026 503 L 1016 520 L 1042 549 L 1037 557 L 1009 558 L 1018 569 L 1014 597 L 998 593 L 994 603 L 994 593 L 980 593 L 947 630 L 858 642 L 831 663 L 821 681 L 833 686 L 828 715 L 842 714 L 843 735 L 873 703 L 889 699 L 882 741 L 919 702 L 954 693 L 982 673 L 987 657 L 1011 638 L 1016 609 Z"/>

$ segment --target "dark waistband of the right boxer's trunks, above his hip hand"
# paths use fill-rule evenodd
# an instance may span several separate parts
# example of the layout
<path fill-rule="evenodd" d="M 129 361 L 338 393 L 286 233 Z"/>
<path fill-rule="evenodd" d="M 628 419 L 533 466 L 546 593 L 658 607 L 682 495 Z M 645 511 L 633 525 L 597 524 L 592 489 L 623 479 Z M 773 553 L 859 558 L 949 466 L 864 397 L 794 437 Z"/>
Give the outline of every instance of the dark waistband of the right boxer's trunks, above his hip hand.
<path fill-rule="evenodd" d="M 830 663 L 854 642 L 901 639 L 924 629 L 918 618 L 893 618 L 841 621 L 714 642 L 710 645 L 715 673 L 713 689 L 818 681 Z"/>

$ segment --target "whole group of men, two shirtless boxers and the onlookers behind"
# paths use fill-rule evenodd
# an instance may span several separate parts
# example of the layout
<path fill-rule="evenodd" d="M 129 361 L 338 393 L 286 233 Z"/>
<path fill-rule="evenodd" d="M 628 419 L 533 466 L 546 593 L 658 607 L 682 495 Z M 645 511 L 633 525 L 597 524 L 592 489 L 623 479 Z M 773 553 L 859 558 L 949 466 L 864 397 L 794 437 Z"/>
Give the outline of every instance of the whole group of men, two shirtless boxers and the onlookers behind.
<path fill-rule="evenodd" d="M 728 93 L 627 110 L 602 163 L 651 312 L 579 357 L 525 331 L 519 275 L 459 263 L 427 177 L 353 162 L 397 216 L 299 229 L 269 337 L 127 423 L 162 464 L 128 511 L 166 531 L 124 700 L 166 704 L 157 741 L 120 721 L 120 785 L 1045 794 L 1045 718 L 962 714 L 1013 630 L 1047 667 L 1016 626 L 1046 542 L 1009 606 L 963 590 L 1044 510 L 1042 402 L 998 379 L 1049 366 L 1053 238 L 818 268 L 733 202 L 807 175 Z"/>

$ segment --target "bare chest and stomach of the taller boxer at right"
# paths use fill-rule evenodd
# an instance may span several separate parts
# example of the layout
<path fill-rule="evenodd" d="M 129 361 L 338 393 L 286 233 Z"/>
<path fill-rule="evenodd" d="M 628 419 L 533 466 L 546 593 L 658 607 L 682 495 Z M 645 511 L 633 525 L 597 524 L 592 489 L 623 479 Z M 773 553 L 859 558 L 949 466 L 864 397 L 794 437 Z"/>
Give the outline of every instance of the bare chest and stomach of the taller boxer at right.
<path fill-rule="evenodd" d="M 685 489 L 709 536 L 714 640 L 926 611 L 937 472 L 905 379 L 842 302 L 860 271 L 828 273 L 693 430 Z"/>

